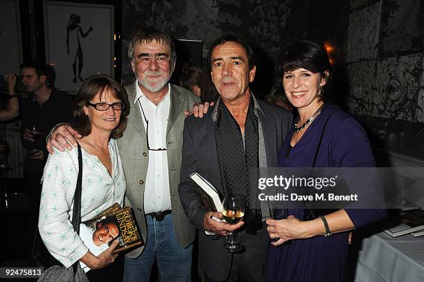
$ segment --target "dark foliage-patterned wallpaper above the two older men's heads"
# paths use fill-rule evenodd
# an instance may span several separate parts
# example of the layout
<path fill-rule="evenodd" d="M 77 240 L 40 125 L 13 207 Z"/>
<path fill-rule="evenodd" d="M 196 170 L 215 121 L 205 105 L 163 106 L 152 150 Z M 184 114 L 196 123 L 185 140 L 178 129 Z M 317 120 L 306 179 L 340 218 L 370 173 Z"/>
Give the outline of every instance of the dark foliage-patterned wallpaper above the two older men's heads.
<path fill-rule="evenodd" d="M 296 3 L 296 5 L 293 5 Z M 203 57 L 223 33 L 235 33 L 254 45 L 261 59 L 256 88 L 274 82 L 274 61 L 281 48 L 305 37 L 308 0 L 123 0 L 123 84 L 134 80 L 127 59 L 132 34 L 143 26 L 156 26 L 175 39 L 204 41 Z M 270 88 L 271 85 L 268 87 Z"/>

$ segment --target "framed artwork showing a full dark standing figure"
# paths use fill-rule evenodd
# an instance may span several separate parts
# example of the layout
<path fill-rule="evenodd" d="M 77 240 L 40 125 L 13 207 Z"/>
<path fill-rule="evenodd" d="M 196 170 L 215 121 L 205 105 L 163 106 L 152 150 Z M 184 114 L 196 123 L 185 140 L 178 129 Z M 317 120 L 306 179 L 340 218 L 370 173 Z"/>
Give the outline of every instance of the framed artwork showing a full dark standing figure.
<path fill-rule="evenodd" d="M 46 62 L 55 86 L 75 94 L 84 79 L 114 77 L 114 6 L 43 1 Z"/>

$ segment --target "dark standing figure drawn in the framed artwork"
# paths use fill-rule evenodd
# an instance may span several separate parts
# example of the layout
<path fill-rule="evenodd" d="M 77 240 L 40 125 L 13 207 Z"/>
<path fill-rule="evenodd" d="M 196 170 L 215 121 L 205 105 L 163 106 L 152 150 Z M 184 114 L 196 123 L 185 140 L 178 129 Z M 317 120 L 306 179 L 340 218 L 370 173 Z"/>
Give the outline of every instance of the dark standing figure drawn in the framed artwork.
<path fill-rule="evenodd" d="M 81 22 L 81 17 L 78 14 L 72 14 L 69 17 L 67 26 L 67 54 L 73 57 L 72 71 L 73 71 L 73 83 L 76 83 L 76 66 L 78 58 L 78 79 L 83 82 L 84 79 L 81 77 L 82 66 L 84 59 L 82 56 L 81 37 L 85 38 L 93 30 L 90 26 L 87 32 L 83 32 L 81 26 L 78 23 Z"/>

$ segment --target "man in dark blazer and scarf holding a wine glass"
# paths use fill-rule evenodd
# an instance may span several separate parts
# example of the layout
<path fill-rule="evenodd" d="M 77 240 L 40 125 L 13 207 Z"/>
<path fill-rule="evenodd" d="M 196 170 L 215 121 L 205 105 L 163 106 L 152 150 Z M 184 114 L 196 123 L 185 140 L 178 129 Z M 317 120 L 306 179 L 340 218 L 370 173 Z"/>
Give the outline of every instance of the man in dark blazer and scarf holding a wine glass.
<path fill-rule="evenodd" d="M 209 48 L 211 77 L 220 98 L 204 118 L 191 116 L 184 124 L 179 197 L 199 232 L 199 261 L 206 281 L 265 281 L 265 252 L 269 236 L 265 220 L 271 207 L 258 203 L 249 189 L 249 171 L 276 167 L 279 149 L 292 115 L 256 100 L 254 53 L 240 39 L 226 35 Z M 215 221 L 222 213 L 206 210 L 195 192 L 191 173 L 200 173 L 224 196 L 245 198 L 244 222 Z M 229 232 L 238 233 L 244 252 L 230 253 L 223 244 Z M 211 236 L 210 234 L 215 234 Z"/>

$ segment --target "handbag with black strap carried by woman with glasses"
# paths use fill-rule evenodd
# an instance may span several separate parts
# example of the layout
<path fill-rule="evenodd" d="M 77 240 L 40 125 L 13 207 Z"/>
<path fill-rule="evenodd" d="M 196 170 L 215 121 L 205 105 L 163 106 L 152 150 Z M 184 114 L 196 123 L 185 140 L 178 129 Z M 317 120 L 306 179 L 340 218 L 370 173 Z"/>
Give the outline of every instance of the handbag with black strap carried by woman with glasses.
<path fill-rule="evenodd" d="M 80 144 L 78 144 L 78 180 L 73 195 L 73 213 L 72 226 L 73 229 L 80 234 L 81 223 L 81 190 L 82 190 L 82 152 Z M 38 232 L 37 232 L 38 234 Z M 37 235 L 36 235 L 37 236 Z M 39 235 L 38 235 L 39 236 Z M 41 238 L 40 238 L 41 239 Z M 51 256 L 51 254 L 50 254 Z M 53 256 L 51 256 L 53 257 Z M 49 262 L 52 260 L 49 260 Z M 56 265 L 50 266 L 39 276 L 38 282 L 60 281 L 60 282 L 88 282 L 87 275 L 82 270 L 78 261 L 70 267 L 64 267 L 58 261 Z M 44 265 L 47 266 L 47 265 Z"/>

